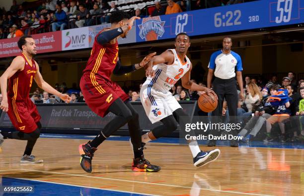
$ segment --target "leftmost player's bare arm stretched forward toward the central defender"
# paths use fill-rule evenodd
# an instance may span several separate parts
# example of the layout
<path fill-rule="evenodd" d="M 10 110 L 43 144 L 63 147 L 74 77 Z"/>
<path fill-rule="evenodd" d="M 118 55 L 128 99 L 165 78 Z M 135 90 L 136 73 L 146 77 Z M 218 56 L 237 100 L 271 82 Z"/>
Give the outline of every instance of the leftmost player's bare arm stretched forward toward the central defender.
<path fill-rule="evenodd" d="M 69 103 L 71 101 L 71 97 L 66 94 L 62 94 L 62 93 L 56 91 L 56 89 L 54 89 L 51 85 L 49 85 L 47 82 L 45 82 L 42 78 L 42 75 L 39 71 L 39 66 L 36 61 L 35 61 L 35 63 L 36 63 L 36 67 L 37 67 L 37 72 L 36 72 L 34 79 L 35 79 L 35 82 L 37 83 L 38 87 L 50 94 L 53 94 L 53 95 L 61 98 L 65 102 Z"/>

